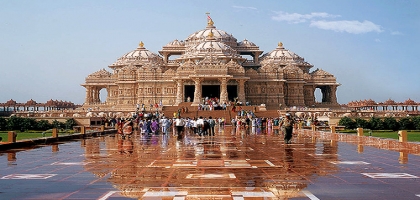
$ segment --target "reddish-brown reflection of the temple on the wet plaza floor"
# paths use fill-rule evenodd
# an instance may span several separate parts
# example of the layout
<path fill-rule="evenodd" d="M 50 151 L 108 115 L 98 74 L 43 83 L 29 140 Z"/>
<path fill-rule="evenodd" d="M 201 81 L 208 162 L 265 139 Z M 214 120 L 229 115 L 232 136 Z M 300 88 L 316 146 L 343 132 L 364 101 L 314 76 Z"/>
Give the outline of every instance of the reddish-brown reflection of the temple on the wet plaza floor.
<path fill-rule="evenodd" d="M 182 141 L 161 135 L 89 140 L 85 169 L 138 199 L 246 194 L 288 199 L 302 195 L 309 180 L 337 170 L 330 163 L 337 161 L 336 142 L 299 137 L 284 145 L 277 135 L 229 134 Z"/>

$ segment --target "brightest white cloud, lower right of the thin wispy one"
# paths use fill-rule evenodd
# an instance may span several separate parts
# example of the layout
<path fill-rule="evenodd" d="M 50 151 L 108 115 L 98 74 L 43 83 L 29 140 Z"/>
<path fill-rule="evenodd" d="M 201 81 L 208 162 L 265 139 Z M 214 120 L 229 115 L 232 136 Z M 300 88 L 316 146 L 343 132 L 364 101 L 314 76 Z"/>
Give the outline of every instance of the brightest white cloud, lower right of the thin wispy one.
<path fill-rule="evenodd" d="M 336 32 L 347 32 L 353 34 L 382 32 L 381 26 L 371 21 L 312 21 L 310 26 L 324 30 L 332 30 Z"/>

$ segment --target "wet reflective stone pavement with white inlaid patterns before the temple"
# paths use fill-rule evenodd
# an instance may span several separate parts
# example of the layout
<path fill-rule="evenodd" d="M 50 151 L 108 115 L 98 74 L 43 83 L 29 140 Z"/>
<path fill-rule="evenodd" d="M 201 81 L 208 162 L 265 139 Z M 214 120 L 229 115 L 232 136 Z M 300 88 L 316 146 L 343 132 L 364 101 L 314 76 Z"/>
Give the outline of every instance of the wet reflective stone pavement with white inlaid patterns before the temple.
<path fill-rule="evenodd" d="M 103 136 L 0 152 L 0 199 L 420 199 L 419 152 L 312 131 Z"/>

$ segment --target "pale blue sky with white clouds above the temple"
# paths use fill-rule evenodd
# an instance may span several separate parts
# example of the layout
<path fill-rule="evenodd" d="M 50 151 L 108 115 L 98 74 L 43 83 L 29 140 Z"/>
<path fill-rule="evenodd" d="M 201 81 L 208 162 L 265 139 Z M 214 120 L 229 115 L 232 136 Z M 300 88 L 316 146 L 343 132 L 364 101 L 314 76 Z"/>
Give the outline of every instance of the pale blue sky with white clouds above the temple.
<path fill-rule="evenodd" d="M 268 53 L 284 47 L 342 84 L 341 104 L 420 102 L 420 1 L 0 1 L 0 102 L 82 104 L 80 86 L 140 41 L 155 53 L 215 26 Z"/>

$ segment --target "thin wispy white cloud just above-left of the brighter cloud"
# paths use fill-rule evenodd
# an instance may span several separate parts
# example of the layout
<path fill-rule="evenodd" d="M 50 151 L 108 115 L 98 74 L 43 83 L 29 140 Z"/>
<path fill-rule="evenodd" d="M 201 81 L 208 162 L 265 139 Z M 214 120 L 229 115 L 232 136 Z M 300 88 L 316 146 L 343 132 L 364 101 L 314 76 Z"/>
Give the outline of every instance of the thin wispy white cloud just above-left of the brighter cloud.
<path fill-rule="evenodd" d="M 339 17 L 339 15 L 331 15 L 325 12 L 314 12 L 311 14 L 299 14 L 299 13 L 287 13 L 287 12 L 276 12 L 275 16 L 272 16 L 271 19 L 276 21 L 286 21 L 291 24 L 303 23 L 311 19 L 319 18 L 334 18 Z"/>

